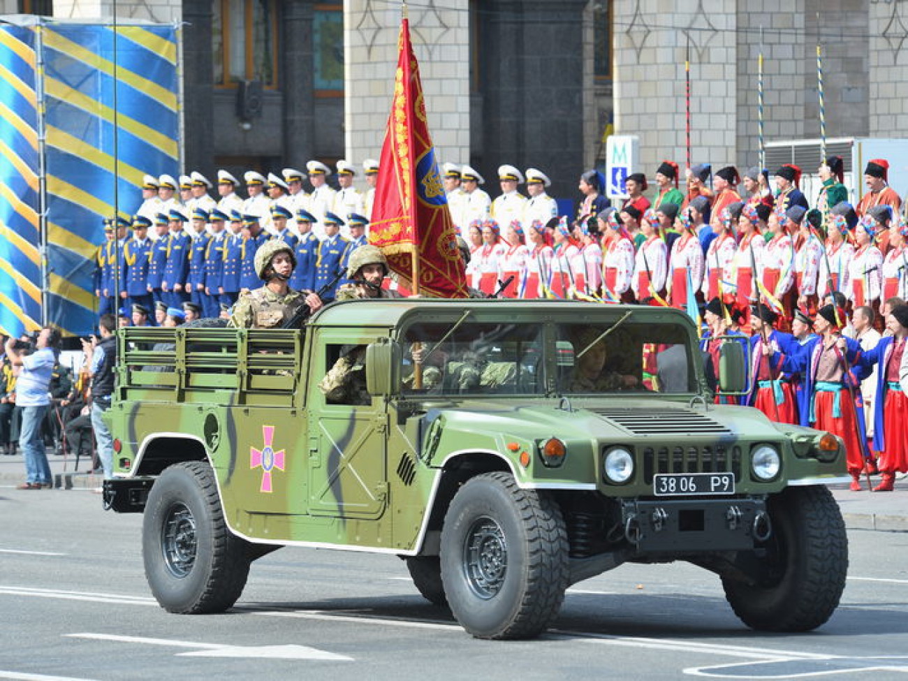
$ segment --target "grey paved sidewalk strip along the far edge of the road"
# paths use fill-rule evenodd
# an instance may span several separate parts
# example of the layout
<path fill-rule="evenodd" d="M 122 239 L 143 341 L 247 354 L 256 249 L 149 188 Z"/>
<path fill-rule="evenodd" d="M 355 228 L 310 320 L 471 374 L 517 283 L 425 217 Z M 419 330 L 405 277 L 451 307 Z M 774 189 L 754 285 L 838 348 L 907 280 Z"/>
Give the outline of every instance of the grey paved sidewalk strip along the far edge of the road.
<path fill-rule="evenodd" d="M 92 463 L 79 459 L 75 470 L 73 456 L 49 456 L 51 471 L 54 473 L 56 489 L 97 489 L 102 476 L 90 472 Z M 22 456 L 0 455 L 0 487 L 15 487 L 25 480 L 25 464 Z M 873 485 L 879 484 L 879 476 L 873 476 Z M 871 529 L 891 532 L 908 532 L 908 478 L 896 480 L 894 492 L 869 492 L 862 489 L 853 492 L 847 485 L 832 485 L 833 496 L 842 508 L 845 525 L 849 529 Z"/>

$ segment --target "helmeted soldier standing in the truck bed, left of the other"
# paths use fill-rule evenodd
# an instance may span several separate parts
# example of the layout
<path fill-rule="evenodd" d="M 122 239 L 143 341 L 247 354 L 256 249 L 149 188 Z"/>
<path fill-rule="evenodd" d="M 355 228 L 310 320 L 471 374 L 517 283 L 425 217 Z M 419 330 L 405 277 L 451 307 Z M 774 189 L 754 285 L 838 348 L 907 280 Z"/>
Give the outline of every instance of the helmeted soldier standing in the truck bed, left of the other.
<path fill-rule="evenodd" d="M 311 311 L 321 308 L 317 295 L 306 291 L 293 291 L 287 284 L 296 256 L 287 243 L 273 240 L 265 242 L 255 253 L 255 271 L 265 285 L 243 293 L 230 318 L 230 326 L 244 329 L 276 329 L 309 305 Z"/>

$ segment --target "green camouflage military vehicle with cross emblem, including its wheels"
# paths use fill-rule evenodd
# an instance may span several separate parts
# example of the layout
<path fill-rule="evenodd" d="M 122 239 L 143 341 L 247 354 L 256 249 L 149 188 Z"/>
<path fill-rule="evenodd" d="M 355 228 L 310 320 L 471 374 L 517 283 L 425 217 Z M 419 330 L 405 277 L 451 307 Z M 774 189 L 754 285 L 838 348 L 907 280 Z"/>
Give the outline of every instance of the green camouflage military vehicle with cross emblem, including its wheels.
<path fill-rule="evenodd" d="M 828 433 L 716 406 L 680 311 L 572 301 L 332 304 L 301 330 L 119 333 L 117 477 L 168 611 L 232 607 L 281 546 L 404 558 L 473 636 L 532 637 L 565 590 L 686 560 L 756 629 L 844 588 Z M 745 389 L 743 345 L 722 356 Z"/>

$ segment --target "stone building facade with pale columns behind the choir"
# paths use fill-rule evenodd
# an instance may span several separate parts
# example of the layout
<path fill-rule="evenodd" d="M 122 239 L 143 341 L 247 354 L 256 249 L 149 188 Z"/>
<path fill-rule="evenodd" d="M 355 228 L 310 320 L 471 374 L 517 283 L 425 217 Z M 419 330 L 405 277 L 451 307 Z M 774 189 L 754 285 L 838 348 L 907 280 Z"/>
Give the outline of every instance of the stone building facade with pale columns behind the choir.
<path fill-rule="evenodd" d="M 0 12 L 49 0 L 0 0 Z M 53 0 L 55 18 L 109 19 L 113 0 Z M 265 3 L 267 4 L 267 3 Z M 42 6 L 44 6 L 42 5 Z M 277 83 L 249 120 L 214 83 L 214 0 L 118 0 L 123 18 L 179 22 L 187 168 L 270 171 L 319 158 L 378 158 L 397 60 L 400 7 L 388 0 L 282 0 Z M 320 13 L 337 15 L 336 44 Z M 823 45 L 827 138 L 898 136 L 908 123 L 908 0 L 419 0 L 410 25 L 439 161 L 470 163 L 497 192 L 500 163 L 536 166 L 553 195 L 604 165 L 604 135 L 636 134 L 641 167 L 757 162 L 757 58 L 765 141 L 819 136 Z M 602 20 L 607 18 L 603 30 Z M 331 34 L 334 35 L 334 34 Z M 325 85 L 319 60 L 337 59 Z M 603 67 L 603 55 L 607 64 Z M 342 63 L 342 64 L 341 64 Z M 817 161 L 819 159 L 817 158 Z"/>

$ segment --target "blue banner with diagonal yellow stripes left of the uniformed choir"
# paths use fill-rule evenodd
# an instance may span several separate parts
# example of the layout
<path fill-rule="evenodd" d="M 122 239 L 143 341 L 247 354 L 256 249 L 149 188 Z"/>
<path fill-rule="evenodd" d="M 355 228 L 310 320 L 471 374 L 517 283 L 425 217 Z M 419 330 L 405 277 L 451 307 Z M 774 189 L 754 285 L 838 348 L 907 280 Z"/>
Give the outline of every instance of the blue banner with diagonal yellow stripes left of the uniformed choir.
<path fill-rule="evenodd" d="M 172 25 L 0 25 L 0 331 L 94 330 L 104 218 L 178 173 L 176 59 Z"/>

